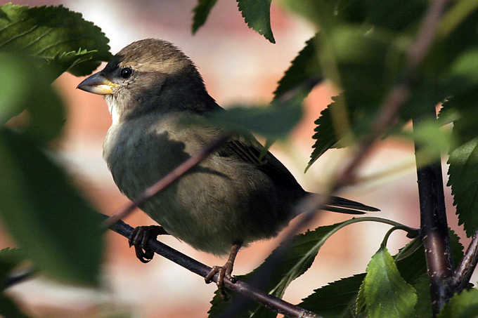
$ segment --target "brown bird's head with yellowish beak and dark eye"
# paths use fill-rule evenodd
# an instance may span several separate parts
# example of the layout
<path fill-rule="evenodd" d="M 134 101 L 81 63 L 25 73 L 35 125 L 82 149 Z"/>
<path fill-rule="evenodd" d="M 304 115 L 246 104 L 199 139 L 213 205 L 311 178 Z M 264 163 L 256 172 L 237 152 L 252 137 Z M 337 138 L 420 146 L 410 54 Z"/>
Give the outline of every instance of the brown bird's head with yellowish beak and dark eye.
<path fill-rule="evenodd" d="M 205 112 L 212 101 L 193 62 L 158 39 L 129 44 L 77 88 L 105 95 L 113 120 L 149 112 Z"/>

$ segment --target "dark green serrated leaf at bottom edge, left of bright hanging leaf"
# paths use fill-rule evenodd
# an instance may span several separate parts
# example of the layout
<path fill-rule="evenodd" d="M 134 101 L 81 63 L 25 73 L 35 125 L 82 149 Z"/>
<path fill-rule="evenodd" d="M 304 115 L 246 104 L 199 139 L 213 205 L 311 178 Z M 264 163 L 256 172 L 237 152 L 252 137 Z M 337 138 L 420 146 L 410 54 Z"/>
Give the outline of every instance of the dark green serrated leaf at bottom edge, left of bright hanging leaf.
<path fill-rule="evenodd" d="M 297 306 L 327 318 L 353 317 L 355 299 L 365 274 L 334 281 L 316 289 Z"/>

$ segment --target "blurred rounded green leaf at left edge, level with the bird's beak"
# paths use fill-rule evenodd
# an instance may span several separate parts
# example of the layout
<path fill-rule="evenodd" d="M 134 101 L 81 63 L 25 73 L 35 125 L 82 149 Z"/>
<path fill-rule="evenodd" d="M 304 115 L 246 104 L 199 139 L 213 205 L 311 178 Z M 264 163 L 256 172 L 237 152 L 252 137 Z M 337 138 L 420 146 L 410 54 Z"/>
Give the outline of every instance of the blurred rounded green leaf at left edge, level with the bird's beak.
<path fill-rule="evenodd" d="M 48 141 L 58 136 L 65 122 L 65 109 L 49 85 L 51 74 L 37 72 L 28 58 L 0 54 L 0 125 L 27 110 L 21 127 L 31 138 Z"/>

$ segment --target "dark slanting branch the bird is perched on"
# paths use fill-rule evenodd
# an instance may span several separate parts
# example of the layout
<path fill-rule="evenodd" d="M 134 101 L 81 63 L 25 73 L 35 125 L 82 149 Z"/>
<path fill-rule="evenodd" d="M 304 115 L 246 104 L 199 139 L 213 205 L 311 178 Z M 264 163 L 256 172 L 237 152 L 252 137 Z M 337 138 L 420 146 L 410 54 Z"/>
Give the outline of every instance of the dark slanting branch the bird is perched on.
<path fill-rule="evenodd" d="M 116 223 L 110 225 L 110 230 L 121 234 L 124 237 L 131 236 L 131 232 L 134 230 L 133 227 L 127 225 L 122 220 L 117 221 Z M 209 272 L 211 272 L 212 268 L 204 265 L 189 256 L 184 255 L 183 253 L 172 249 L 171 247 L 163 244 L 156 239 L 149 239 L 148 246 L 152 251 L 158 253 L 159 255 L 172 260 L 174 263 L 185 267 L 187 270 L 194 272 L 202 277 L 206 277 Z M 216 282 L 217 277 L 219 275 L 215 274 L 212 278 L 212 281 Z M 317 314 L 313 312 L 309 312 L 308 310 L 304 310 L 303 308 L 297 307 L 290 303 L 285 302 L 280 298 L 276 298 L 274 296 L 268 295 L 258 289 L 253 288 L 249 284 L 246 284 L 243 281 L 236 281 L 235 283 L 231 283 L 229 279 L 226 277 L 224 278 L 224 286 L 226 286 L 231 291 L 236 291 L 252 300 L 269 307 L 269 309 L 273 310 L 274 312 L 278 312 L 279 314 L 285 314 L 287 317 L 297 317 L 297 318 L 320 318 Z"/>

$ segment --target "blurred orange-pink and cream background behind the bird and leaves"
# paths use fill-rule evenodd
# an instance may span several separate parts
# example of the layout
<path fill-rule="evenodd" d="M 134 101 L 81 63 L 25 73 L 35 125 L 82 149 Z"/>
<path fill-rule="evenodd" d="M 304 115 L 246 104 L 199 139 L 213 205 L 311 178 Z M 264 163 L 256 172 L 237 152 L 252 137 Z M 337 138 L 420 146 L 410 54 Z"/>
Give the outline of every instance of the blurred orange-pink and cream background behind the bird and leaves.
<path fill-rule="evenodd" d="M 269 102 L 277 81 L 290 61 L 314 35 L 314 29 L 274 1 L 271 25 L 276 44 L 247 28 L 235 1 L 218 1 L 204 27 L 190 32 L 193 8 L 197 0 L 163 1 L 13 1 L 29 6 L 63 5 L 84 15 L 103 29 L 110 39 L 112 53 L 148 37 L 165 39 L 179 46 L 198 66 L 207 90 L 219 105 L 238 102 Z M 102 65 L 100 69 L 104 67 Z M 111 215 L 127 199 L 120 194 L 102 158 L 102 144 L 111 124 L 108 107 L 102 96 L 75 89 L 82 79 L 64 74 L 55 86 L 67 105 L 68 118 L 61 141 L 65 164 L 99 211 Z M 321 192 L 337 167 L 347 160 L 347 150 L 331 150 L 304 174 L 314 141 L 314 120 L 330 103 L 337 91 L 327 82 L 306 99 L 304 119 L 290 140 L 277 143 L 272 152 L 283 161 L 299 183 L 311 192 Z M 411 227 L 419 226 L 418 188 L 416 185 L 413 145 L 401 140 L 387 141 L 376 147 L 361 168 L 365 182 L 345 189 L 341 196 L 376 206 L 382 211 L 374 216 L 391 218 Z M 446 180 L 446 166 L 444 166 Z M 452 199 L 446 189 L 448 222 L 458 227 Z M 348 216 L 323 213 L 311 229 L 347 220 Z M 126 220 L 137 225 L 154 224 L 146 214 L 136 211 Z M 328 282 L 364 272 L 370 257 L 379 248 L 389 226 L 360 223 L 335 234 L 318 253 L 311 270 L 292 282 L 285 293 L 291 303 L 308 296 Z M 1 233 L 0 233 L 1 234 Z M 108 253 L 104 263 L 105 284 L 101 291 L 54 284 L 44 278 L 18 284 L 9 293 L 34 317 L 95 317 L 100 312 L 129 312 L 134 317 L 207 317 L 209 300 L 216 287 L 206 285 L 201 277 L 156 256 L 148 264 L 140 263 L 127 240 L 108 234 Z M 195 251 L 172 237 L 164 243 L 209 266 L 222 265 L 215 258 Z M 240 251 L 234 273 L 250 272 L 277 246 L 280 236 L 259 241 Z M 389 240 L 390 252 L 406 244 L 403 232 L 394 232 Z M 463 242 L 467 244 L 467 241 Z M 1 234 L 0 249 L 13 243 Z M 474 279 L 472 279 L 474 282 Z"/>

